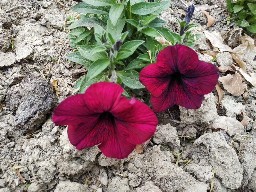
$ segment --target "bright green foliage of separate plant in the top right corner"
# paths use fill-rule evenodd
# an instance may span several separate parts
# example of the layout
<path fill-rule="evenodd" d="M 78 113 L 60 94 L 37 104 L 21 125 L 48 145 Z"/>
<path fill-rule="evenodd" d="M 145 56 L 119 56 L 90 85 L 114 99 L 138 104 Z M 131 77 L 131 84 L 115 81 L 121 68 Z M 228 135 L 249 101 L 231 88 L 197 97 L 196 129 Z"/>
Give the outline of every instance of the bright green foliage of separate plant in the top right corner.
<path fill-rule="evenodd" d="M 239 27 L 242 27 L 247 33 L 256 33 L 256 0 L 227 0 L 227 9 L 231 12 L 231 17 L 228 18 Z"/>

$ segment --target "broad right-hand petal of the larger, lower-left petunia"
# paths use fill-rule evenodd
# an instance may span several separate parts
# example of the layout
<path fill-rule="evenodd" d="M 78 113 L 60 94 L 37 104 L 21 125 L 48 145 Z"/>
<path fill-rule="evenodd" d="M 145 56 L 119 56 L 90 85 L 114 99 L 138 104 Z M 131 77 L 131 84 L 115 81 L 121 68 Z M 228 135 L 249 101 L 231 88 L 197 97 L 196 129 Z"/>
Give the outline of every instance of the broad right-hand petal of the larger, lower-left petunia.
<path fill-rule="evenodd" d="M 122 98 L 111 113 L 115 116 L 117 132 L 129 143 L 142 144 L 156 130 L 158 121 L 155 113 L 146 104 L 134 98 Z"/>

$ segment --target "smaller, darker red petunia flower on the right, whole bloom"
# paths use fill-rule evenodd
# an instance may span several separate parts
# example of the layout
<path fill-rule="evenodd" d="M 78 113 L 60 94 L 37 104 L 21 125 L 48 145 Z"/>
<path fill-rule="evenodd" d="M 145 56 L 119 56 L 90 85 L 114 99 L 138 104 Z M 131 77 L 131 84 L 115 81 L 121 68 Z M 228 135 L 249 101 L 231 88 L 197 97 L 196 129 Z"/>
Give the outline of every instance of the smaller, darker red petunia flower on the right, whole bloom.
<path fill-rule="evenodd" d="M 154 111 L 160 112 L 173 105 L 200 108 L 218 78 L 215 65 L 200 61 L 193 49 L 175 45 L 160 51 L 157 62 L 141 70 L 139 80 L 151 93 Z"/>

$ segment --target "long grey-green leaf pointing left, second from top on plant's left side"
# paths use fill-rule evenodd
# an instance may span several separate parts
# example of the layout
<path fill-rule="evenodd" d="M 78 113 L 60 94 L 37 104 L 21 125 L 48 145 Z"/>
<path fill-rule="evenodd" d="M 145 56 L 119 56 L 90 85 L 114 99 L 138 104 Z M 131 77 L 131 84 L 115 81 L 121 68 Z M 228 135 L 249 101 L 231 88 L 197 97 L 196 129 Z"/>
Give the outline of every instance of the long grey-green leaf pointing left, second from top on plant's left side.
<path fill-rule="evenodd" d="M 67 29 L 74 29 L 76 27 L 94 27 L 95 24 L 98 24 L 101 27 L 106 26 L 106 23 L 101 19 L 95 18 L 95 17 L 89 17 L 86 19 L 79 19 L 75 21 L 74 23 L 69 25 Z"/>

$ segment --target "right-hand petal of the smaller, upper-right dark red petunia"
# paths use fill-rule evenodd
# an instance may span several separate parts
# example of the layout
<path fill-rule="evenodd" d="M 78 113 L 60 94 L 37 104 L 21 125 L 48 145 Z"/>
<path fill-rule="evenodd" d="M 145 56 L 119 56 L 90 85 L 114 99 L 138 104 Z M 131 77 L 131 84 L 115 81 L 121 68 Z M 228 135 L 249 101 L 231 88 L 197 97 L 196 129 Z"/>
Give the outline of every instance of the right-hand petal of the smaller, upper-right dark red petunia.
<path fill-rule="evenodd" d="M 183 82 L 187 86 L 196 88 L 198 94 L 208 94 L 218 83 L 218 72 L 215 65 L 200 61 L 195 69 L 184 74 Z"/>

